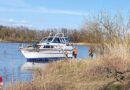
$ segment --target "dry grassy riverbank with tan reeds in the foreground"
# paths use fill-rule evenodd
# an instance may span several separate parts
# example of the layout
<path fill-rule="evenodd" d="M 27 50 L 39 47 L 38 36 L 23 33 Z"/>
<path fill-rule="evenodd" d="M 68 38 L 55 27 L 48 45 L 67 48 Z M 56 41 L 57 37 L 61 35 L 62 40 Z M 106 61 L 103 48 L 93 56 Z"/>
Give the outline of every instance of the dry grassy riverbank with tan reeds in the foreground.
<path fill-rule="evenodd" d="M 9 90 L 128 90 L 130 53 L 115 47 L 95 59 L 61 60 L 37 69 L 34 80 L 18 82 Z"/>

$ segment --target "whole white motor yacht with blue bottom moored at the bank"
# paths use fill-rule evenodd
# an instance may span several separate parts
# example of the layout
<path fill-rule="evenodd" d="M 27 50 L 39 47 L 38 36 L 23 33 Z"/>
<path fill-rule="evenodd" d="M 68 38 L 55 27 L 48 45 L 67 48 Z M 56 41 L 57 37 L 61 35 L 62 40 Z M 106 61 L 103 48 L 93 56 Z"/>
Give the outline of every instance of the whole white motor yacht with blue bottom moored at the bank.
<path fill-rule="evenodd" d="M 27 62 L 49 62 L 73 57 L 73 47 L 63 33 L 50 34 L 38 44 L 20 47 L 20 51 Z"/>

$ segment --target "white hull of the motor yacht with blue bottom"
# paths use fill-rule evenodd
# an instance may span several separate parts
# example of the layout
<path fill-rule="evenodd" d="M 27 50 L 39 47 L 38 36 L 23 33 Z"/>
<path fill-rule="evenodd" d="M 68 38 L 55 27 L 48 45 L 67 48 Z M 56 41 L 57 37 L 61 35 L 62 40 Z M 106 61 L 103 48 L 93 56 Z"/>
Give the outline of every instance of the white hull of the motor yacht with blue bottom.
<path fill-rule="evenodd" d="M 67 54 L 61 49 L 21 49 L 21 52 L 27 62 L 51 62 L 73 57 L 72 50 L 67 50 Z"/>

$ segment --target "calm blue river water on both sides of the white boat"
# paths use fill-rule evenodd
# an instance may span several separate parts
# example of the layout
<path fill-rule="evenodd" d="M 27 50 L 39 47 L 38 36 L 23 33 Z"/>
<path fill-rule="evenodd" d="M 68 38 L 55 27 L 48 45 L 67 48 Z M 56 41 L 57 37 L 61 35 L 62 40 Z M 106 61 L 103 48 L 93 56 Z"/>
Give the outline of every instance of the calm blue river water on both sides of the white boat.
<path fill-rule="evenodd" d="M 27 67 L 26 59 L 19 51 L 19 46 L 20 43 L 0 43 L 0 76 L 3 77 L 4 83 L 17 80 L 28 82 L 32 79 L 33 68 L 24 68 Z M 89 58 L 89 47 L 75 47 L 78 49 L 77 58 Z"/>

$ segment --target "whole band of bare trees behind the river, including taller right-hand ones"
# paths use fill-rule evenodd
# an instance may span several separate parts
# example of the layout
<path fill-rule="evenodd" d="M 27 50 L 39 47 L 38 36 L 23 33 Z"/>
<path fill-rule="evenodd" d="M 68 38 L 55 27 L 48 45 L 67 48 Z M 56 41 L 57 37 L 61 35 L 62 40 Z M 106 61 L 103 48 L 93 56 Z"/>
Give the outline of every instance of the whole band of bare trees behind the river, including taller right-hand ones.
<path fill-rule="evenodd" d="M 121 15 L 109 16 L 99 14 L 86 20 L 82 28 L 77 29 L 47 29 L 30 30 L 25 27 L 0 26 L 0 40 L 8 42 L 39 42 L 49 33 L 64 33 L 73 43 L 120 43 L 124 40 L 130 42 L 130 19 L 124 22 Z"/>

